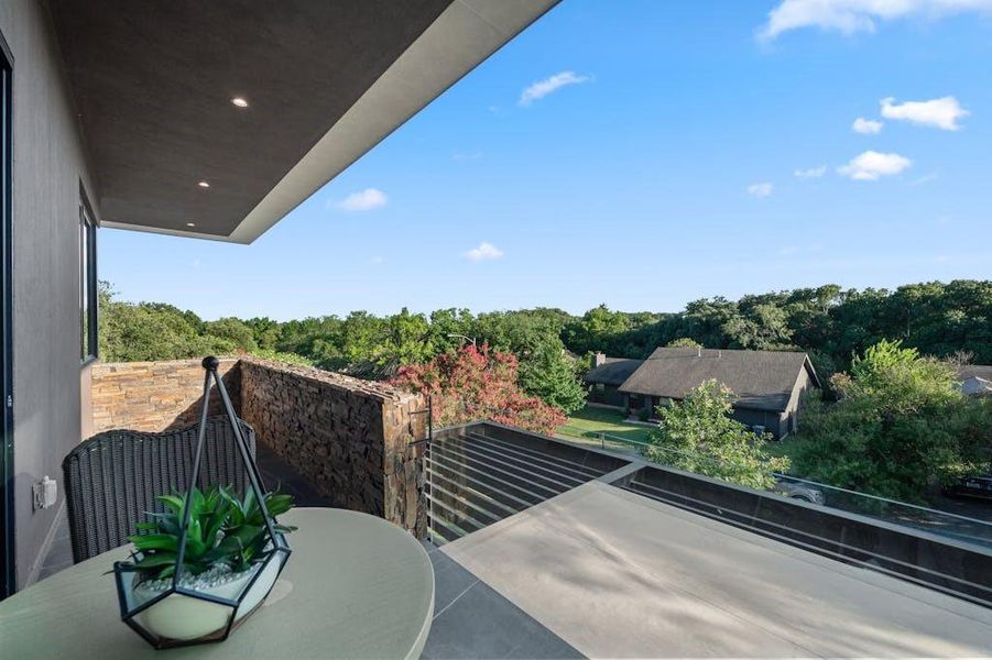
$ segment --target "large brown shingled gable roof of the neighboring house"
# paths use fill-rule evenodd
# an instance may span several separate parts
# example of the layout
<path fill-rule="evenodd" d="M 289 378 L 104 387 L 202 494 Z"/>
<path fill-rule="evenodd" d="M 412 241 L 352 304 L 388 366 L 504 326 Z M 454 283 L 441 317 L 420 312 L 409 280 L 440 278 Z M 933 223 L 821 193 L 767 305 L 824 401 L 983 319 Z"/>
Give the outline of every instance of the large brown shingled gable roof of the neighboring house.
<path fill-rule="evenodd" d="M 620 392 L 680 399 L 712 378 L 733 391 L 737 407 L 783 411 L 804 369 L 819 387 L 806 353 L 657 349 Z"/>

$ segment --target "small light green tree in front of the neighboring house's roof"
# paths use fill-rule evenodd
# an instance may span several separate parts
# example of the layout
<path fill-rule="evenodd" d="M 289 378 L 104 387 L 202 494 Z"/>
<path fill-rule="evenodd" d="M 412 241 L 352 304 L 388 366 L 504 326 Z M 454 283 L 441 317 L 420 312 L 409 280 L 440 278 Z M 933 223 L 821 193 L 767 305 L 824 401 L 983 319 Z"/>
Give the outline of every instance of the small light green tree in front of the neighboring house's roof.
<path fill-rule="evenodd" d="M 659 407 L 661 421 L 652 430 L 645 457 L 752 488 L 775 483 L 773 472 L 788 469 L 788 459 L 765 451 L 771 435 L 756 436 L 731 419 L 733 393 L 716 381 L 691 389 L 680 402 Z"/>

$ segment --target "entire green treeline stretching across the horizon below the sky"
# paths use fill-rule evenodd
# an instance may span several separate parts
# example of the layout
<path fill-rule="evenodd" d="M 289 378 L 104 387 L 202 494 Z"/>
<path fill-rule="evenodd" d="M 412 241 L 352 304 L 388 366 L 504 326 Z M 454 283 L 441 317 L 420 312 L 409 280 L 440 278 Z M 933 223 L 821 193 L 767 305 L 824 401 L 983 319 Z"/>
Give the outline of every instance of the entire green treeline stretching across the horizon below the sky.
<path fill-rule="evenodd" d="M 824 377 L 881 340 L 901 340 L 924 355 L 969 353 L 992 363 L 992 282 L 956 280 L 886 289 L 837 285 L 704 298 L 674 314 L 622 312 L 600 306 L 576 317 L 560 309 L 472 314 L 439 309 L 388 317 L 355 311 L 277 322 L 269 318 L 204 321 L 192 311 L 117 299 L 101 289 L 100 345 L 106 361 L 170 360 L 237 350 L 385 378 L 466 342 L 488 343 L 520 361 L 530 394 L 573 409 L 586 355 L 645 358 L 655 348 L 693 340 L 708 348 L 803 350 Z M 293 358 L 293 356 L 296 358 Z"/>

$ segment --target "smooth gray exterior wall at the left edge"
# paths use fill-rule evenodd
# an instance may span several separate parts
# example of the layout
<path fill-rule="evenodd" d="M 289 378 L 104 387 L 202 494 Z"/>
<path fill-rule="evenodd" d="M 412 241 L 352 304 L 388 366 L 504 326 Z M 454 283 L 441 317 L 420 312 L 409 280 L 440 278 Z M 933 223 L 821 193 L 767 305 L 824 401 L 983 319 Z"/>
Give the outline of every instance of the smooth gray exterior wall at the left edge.
<path fill-rule="evenodd" d="M 62 459 L 80 439 L 78 204 L 80 182 L 90 187 L 46 9 L 3 0 L 0 32 L 14 58 L 13 495 L 23 588 L 64 508 Z M 58 481 L 58 504 L 34 512 L 31 485 L 46 474 Z"/>

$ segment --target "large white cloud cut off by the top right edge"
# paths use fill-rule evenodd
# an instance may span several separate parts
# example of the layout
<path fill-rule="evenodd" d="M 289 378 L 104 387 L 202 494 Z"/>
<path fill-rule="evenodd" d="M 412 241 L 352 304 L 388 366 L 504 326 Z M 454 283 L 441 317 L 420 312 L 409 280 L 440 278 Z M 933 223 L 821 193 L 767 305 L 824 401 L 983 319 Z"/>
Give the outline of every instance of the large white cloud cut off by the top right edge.
<path fill-rule="evenodd" d="M 963 12 L 992 13 L 992 0 L 782 0 L 768 12 L 759 38 L 773 40 L 802 28 L 854 34 L 874 32 L 877 21 L 920 18 L 927 21 Z"/>

